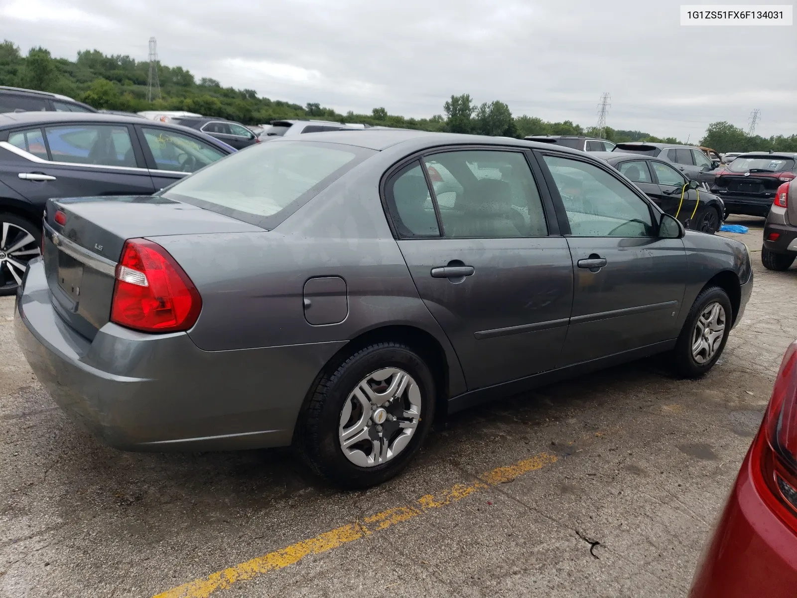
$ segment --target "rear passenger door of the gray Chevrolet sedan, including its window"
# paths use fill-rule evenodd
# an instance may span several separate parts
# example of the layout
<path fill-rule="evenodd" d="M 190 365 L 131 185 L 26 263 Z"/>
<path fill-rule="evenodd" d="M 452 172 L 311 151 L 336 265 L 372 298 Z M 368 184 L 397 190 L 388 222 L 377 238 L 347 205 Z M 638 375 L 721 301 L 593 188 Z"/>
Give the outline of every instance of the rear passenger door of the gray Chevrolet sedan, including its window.
<path fill-rule="evenodd" d="M 393 175 L 386 195 L 398 246 L 468 388 L 554 368 L 571 309 L 570 251 L 548 236 L 524 153 L 428 155 Z"/>

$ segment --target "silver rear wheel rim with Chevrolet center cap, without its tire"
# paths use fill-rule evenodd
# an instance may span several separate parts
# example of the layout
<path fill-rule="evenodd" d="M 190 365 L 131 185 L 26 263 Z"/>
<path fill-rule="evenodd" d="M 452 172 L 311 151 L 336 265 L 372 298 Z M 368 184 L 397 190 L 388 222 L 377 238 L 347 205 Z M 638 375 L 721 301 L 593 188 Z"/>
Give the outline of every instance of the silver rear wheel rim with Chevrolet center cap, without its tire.
<path fill-rule="evenodd" d="M 418 428 L 422 406 L 418 383 L 399 368 L 382 368 L 360 380 L 340 411 L 340 448 L 361 467 L 390 461 Z"/>

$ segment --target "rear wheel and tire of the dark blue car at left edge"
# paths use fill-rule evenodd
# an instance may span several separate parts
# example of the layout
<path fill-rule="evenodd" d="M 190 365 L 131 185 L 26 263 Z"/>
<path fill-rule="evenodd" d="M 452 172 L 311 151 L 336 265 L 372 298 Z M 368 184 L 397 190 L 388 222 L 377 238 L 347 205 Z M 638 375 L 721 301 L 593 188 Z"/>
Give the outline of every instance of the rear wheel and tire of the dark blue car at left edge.
<path fill-rule="evenodd" d="M 41 227 L 15 214 L 0 212 L 0 295 L 17 292 L 28 262 L 39 255 Z"/>

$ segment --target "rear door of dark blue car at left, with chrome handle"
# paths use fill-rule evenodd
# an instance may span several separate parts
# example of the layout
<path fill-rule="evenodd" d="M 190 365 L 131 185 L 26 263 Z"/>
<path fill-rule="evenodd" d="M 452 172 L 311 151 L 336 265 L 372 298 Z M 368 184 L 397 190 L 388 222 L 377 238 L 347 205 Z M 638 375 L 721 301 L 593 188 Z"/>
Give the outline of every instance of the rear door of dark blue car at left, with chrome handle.
<path fill-rule="evenodd" d="M 18 151 L 13 162 L 0 161 L 0 180 L 41 207 L 53 197 L 155 191 L 128 124 L 19 129 L 8 144 Z"/>

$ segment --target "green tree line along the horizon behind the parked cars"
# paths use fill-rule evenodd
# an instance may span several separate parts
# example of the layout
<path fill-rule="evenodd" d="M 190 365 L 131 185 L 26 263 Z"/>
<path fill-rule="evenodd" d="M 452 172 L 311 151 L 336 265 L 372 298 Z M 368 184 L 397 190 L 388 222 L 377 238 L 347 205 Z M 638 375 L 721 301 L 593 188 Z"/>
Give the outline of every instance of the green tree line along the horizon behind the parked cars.
<path fill-rule="evenodd" d="M 107 56 L 99 50 L 84 50 L 77 59 L 54 58 L 38 47 L 26 56 L 14 42 L 0 43 L 0 85 L 61 93 L 95 108 L 141 112 L 143 110 L 186 110 L 205 116 L 220 116 L 244 124 L 263 124 L 272 120 L 315 118 L 337 122 L 363 123 L 424 131 L 472 133 L 476 135 L 523 138 L 528 135 L 599 136 L 594 127 L 584 128 L 571 120 L 549 122 L 536 116 L 513 116 L 504 102 L 477 104 L 469 94 L 451 96 L 443 104 L 443 114 L 430 118 L 406 118 L 374 108 L 371 114 L 340 114 L 318 103 L 304 106 L 282 100 L 258 97 L 252 89 L 222 87 L 219 81 L 202 77 L 196 81 L 182 67 L 158 65 L 160 97 L 147 101 L 149 62 L 123 55 Z M 663 141 L 678 143 L 674 137 L 658 138 L 646 132 L 603 129 L 604 139 L 623 141 Z M 727 122 L 709 125 L 702 145 L 717 151 L 797 151 L 797 135 L 748 136 Z"/>

